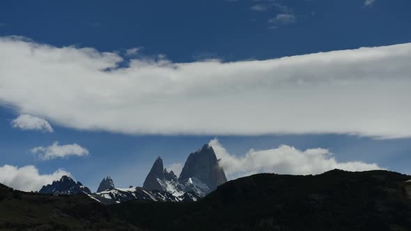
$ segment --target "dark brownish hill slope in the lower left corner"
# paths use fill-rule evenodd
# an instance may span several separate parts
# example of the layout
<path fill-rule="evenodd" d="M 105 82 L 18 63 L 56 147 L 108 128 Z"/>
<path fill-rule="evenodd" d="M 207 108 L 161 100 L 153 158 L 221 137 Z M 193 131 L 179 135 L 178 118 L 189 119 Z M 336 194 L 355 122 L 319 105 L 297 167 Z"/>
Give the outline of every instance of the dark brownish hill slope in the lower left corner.
<path fill-rule="evenodd" d="M 137 230 L 85 194 L 25 193 L 0 184 L 0 230 Z"/>

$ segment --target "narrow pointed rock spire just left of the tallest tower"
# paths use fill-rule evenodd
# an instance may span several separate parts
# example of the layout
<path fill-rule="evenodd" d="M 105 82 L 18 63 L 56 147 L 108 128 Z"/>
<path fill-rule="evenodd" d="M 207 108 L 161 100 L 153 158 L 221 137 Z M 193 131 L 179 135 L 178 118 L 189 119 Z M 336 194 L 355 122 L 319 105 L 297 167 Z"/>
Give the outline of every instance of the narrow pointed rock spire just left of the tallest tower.
<path fill-rule="evenodd" d="M 150 173 L 144 180 L 143 189 L 166 191 L 165 182 L 163 160 L 161 157 L 157 157 Z"/>

